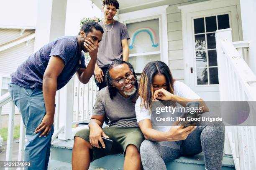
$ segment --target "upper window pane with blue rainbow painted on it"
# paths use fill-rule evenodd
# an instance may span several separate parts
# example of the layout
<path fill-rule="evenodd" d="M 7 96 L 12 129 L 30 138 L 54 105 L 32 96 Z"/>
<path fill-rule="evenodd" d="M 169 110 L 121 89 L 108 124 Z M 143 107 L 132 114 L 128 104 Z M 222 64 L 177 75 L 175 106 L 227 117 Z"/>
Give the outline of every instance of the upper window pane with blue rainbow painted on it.
<path fill-rule="evenodd" d="M 160 51 L 159 19 L 127 24 L 129 53 Z"/>

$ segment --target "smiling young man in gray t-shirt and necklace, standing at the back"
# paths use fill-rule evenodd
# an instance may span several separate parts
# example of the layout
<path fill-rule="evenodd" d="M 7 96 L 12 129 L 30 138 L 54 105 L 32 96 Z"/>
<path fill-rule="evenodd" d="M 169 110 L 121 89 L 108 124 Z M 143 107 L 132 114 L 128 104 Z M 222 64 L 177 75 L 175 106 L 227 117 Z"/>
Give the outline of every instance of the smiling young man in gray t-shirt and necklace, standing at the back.
<path fill-rule="evenodd" d="M 105 33 L 100 43 L 94 70 L 99 90 L 107 86 L 104 76 L 108 70 L 108 65 L 118 59 L 128 61 L 128 39 L 130 37 L 127 28 L 124 24 L 113 19 L 118 9 L 117 0 L 103 0 L 104 19 L 99 24 Z"/>

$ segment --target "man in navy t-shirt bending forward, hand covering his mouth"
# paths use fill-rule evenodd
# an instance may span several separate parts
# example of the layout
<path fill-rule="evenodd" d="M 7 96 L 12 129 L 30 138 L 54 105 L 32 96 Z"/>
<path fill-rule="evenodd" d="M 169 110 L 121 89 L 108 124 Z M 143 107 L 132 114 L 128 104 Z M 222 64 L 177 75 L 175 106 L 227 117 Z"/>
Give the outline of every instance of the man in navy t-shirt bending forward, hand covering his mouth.
<path fill-rule="evenodd" d="M 31 164 L 28 170 L 47 170 L 56 90 L 75 73 L 84 84 L 90 80 L 103 32 L 99 24 L 86 22 L 79 35 L 59 37 L 44 45 L 12 73 L 9 91 L 26 126 L 25 161 Z M 90 54 L 87 67 L 81 51 Z"/>

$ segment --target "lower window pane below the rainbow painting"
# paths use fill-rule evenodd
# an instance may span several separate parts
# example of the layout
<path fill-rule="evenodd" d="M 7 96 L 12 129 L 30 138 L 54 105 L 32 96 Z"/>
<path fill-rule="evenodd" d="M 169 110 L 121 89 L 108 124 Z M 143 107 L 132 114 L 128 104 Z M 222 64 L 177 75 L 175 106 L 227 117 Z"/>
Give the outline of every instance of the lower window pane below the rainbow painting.
<path fill-rule="evenodd" d="M 129 57 L 129 62 L 133 65 L 136 73 L 141 73 L 148 62 L 156 60 L 161 60 L 160 54 Z"/>

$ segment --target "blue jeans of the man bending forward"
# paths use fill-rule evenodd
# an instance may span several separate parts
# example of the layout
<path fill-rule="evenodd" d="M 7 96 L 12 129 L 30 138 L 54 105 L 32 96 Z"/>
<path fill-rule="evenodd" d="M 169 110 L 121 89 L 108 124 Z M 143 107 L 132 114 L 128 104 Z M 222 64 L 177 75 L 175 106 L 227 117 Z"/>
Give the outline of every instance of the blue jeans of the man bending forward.
<path fill-rule="evenodd" d="M 40 133 L 34 134 L 46 114 L 43 91 L 21 87 L 12 82 L 8 86 L 11 98 L 18 107 L 26 127 L 24 161 L 31 164 L 28 170 L 47 170 L 54 127 L 52 125 L 51 132 L 46 137 L 39 138 Z"/>

